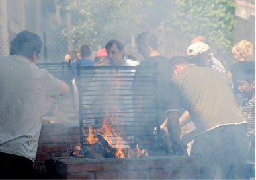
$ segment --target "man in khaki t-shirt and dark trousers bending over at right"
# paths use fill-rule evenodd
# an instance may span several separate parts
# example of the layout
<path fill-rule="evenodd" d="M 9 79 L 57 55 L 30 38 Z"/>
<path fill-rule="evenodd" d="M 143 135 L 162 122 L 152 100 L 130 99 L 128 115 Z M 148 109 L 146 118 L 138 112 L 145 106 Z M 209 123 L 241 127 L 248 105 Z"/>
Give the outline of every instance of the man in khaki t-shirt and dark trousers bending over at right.
<path fill-rule="evenodd" d="M 244 179 L 247 123 L 228 77 L 185 58 L 172 67 L 173 84 L 196 126 L 191 155 L 200 159 L 202 179 Z"/>

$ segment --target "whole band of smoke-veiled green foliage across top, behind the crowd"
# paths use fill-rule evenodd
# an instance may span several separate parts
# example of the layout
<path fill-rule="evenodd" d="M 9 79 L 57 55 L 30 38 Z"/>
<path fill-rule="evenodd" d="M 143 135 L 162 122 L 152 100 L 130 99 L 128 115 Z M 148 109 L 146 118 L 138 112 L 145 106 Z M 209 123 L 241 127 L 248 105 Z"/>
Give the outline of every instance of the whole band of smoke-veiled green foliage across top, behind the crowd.
<path fill-rule="evenodd" d="M 234 0 L 56 0 L 72 14 L 73 44 L 104 47 L 108 40 L 124 44 L 144 30 L 165 22 L 170 32 L 206 36 L 224 51 L 234 42 Z M 68 36 L 67 30 L 63 34 Z M 70 38 L 70 37 L 69 37 Z"/>

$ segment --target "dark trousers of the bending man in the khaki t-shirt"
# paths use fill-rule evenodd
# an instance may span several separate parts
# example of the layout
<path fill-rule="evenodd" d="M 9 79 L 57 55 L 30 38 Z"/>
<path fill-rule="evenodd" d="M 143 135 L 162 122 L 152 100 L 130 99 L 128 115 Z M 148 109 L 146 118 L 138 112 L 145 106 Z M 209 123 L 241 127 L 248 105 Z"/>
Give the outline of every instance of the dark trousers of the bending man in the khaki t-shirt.
<path fill-rule="evenodd" d="M 200 158 L 202 179 L 245 179 L 246 127 L 224 125 L 194 138 L 191 155 Z"/>

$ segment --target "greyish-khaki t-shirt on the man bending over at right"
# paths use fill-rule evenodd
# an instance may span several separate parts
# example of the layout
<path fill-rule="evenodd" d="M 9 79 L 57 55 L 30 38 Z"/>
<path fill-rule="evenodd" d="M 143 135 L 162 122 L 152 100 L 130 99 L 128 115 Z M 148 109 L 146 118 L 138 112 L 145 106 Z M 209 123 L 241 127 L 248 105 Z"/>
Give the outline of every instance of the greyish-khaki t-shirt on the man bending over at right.
<path fill-rule="evenodd" d="M 173 77 L 173 82 L 198 133 L 221 125 L 246 122 L 235 101 L 230 81 L 223 73 L 188 65 Z"/>

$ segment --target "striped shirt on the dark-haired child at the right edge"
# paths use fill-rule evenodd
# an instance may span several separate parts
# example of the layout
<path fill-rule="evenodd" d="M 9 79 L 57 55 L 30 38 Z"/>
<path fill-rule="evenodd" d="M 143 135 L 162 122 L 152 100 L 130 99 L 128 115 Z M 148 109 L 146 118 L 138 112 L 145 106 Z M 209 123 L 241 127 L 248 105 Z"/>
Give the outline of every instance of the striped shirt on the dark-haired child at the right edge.
<path fill-rule="evenodd" d="M 243 116 L 248 122 L 247 137 L 249 138 L 248 158 L 255 161 L 255 98 L 240 105 Z"/>

